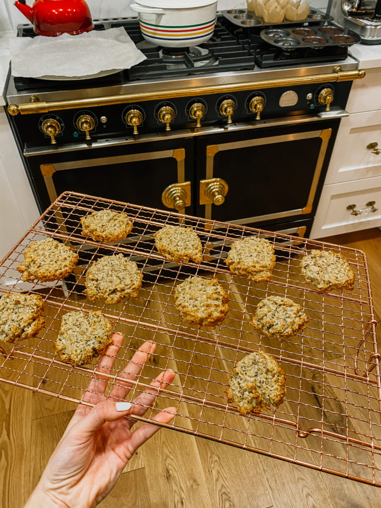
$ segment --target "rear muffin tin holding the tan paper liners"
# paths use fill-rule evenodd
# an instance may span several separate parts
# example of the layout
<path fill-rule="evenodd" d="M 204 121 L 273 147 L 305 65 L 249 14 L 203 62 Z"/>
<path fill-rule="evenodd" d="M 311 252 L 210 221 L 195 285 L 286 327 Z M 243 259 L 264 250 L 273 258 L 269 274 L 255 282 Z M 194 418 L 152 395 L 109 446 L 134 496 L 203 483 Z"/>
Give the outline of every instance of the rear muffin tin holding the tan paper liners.
<path fill-rule="evenodd" d="M 241 28 L 251 28 L 256 26 L 275 26 L 275 25 L 295 25 L 308 23 L 309 25 L 322 25 L 326 21 L 331 21 L 332 16 L 329 16 L 323 11 L 310 9 L 308 16 L 303 21 L 290 21 L 286 18 L 281 23 L 266 23 L 266 21 L 260 16 L 256 16 L 253 12 L 247 11 L 247 9 L 229 9 L 228 11 L 222 12 L 223 16 L 232 23 Z"/>

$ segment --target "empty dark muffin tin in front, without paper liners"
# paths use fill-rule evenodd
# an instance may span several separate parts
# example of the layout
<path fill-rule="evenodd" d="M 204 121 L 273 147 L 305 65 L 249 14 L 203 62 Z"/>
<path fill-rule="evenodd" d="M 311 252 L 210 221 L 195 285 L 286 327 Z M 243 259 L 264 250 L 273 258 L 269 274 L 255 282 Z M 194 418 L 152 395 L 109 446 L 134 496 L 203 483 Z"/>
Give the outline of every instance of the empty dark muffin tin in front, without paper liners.
<path fill-rule="evenodd" d="M 283 50 L 352 46 L 361 41 L 354 31 L 332 23 L 319 27 L 267 28 L 262 30 L 260 35 L 265 42 Z"/>

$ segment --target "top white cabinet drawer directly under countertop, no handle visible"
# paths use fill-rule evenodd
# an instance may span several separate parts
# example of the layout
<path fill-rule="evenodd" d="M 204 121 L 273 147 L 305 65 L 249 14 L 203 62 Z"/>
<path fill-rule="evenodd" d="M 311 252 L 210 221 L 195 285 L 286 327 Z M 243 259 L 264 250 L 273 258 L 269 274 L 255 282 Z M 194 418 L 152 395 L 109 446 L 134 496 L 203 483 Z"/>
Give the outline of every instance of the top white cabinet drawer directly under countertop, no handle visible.
<path fill-rule="evenodd" d="M 346 110 L 350 113 L 381 109 L 381 69 L 365 69 L 364 79 L 354 81 Z"/>

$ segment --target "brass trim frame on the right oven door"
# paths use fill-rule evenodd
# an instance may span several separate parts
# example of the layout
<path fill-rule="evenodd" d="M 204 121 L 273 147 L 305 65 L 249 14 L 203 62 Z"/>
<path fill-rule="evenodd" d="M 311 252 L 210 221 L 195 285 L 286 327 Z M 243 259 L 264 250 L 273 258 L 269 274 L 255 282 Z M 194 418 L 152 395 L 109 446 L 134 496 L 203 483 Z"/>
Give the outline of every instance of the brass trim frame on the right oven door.
<path fill-rule="evenodd" d="M 248 217 L 245 219 L 237 219 L 237 220 L 229 220 L 228 222 L 232 224 L 250 224 L 252 222 L 256 222 L 258 220 L 272 220 L 281 217 L 290 217 L 292 215 L 302 215 L 308 214 L 312 211 L 313 200 L 316 195 L 317 184 L 319 183 L 319 178 L 322 173 L 324 158 L 326 156 L 327 147 L 329 140 L 332 135 L 332 129 L 323 129 L 319 131 L 309 131 L 309 132 L 301 132 L 294 134 L 284 134 L 282 136 L 269 136 L 267 138 L 256 138 L 244 141 L 234 141 L 232 143 L 222 143 L 219 145 L 209 145 L 206 147 L 206 168 L 205 168 L 205 178 L 211 179 L 213 178 L 213 164 L 214 164 L 214 156 L 219 151 L 223 150 L 232 150 L 236 148 L 244 148 L 248 146 L 257 146 L 257 145 L 268 145 L 272 143 L 282 143 L 287 141 L 294 141 L 298 139 L 308 139 L 308 138 L 321 138 L 322 144 L 319 150 L 319 154 L 317 155 L 316 166 L 313 172 L 313 178 L 311 187 L 309 190 L 309 195 L 307 198 L 307 203 L 303 208 L 298 208 L 296 210 L 287 210 L 283 212 L 277 213 L 269 213 L 265 215 L 257 215 L 255 217 Z M 219 175 L 216 175 L 219 177 Z M 229 184 L 229 182 L 228 182 Z M 224 206 L 224 205 L 222 205 Z M 211 219 L 212 216 L 212 204 L 209 203 L 205 205 L 205 218 Z"/>

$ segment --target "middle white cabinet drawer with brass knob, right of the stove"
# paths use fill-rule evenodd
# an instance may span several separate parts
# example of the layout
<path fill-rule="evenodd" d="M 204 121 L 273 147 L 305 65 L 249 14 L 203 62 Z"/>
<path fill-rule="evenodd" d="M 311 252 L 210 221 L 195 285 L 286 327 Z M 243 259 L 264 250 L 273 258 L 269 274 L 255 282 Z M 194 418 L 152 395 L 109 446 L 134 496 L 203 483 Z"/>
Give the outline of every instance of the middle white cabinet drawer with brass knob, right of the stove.
<path fill-rule="evenodd" d="M 381 175 L 381 152 L 367 148 L 378 143 L 381 150 L 381 111 L 347 116 L 341 120 L 326 184 Z"/>

